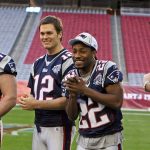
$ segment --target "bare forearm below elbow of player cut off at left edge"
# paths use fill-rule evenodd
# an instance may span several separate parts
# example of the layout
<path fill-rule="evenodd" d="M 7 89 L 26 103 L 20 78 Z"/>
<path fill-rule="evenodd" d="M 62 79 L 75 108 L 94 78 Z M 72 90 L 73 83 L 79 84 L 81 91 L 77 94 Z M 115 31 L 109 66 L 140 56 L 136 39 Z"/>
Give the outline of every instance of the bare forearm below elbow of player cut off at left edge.
<path fill-rule="evenodd" d="M 0 101 L 0 117 L 4 116 L 16 105 L 16 97 L 2 98 Z"/>

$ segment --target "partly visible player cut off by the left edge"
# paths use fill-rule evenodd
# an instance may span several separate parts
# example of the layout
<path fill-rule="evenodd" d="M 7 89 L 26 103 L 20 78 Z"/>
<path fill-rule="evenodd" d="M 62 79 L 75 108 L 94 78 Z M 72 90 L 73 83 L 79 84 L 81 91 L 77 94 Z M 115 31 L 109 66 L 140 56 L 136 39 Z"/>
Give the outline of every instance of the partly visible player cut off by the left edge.
<path fill-rule="evenodd" d="M 16 104 L 17 83 L 16 65 L 13 59 L 0 53 L 0 118 L 9 112 Z M 0 120 L 0 145 L 2 143 L 3 125 Z"/>

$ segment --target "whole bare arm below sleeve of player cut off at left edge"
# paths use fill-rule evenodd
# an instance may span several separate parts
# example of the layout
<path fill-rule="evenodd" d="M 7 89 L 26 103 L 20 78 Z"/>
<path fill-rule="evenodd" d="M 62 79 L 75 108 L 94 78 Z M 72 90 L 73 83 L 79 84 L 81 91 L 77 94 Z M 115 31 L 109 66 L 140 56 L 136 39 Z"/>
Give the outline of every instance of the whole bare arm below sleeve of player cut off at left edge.
<path fill-rule="evenodd" d="M 0 100 L 0 117 L 2 117 L 16 105 L 16 78 L 10 74 L 0 75 L 0 89 L 2 92 L 2 97 Z"/>

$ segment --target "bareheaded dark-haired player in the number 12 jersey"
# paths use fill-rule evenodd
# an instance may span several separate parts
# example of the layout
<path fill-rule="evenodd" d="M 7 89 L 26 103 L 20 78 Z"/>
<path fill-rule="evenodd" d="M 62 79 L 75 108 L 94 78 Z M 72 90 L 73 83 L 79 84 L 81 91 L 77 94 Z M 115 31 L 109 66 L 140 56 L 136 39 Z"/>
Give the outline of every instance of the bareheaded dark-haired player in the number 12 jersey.
<path fill-rule="evenodd" d="M 62 44 L 62 22 L 46 16 L 40 22 L 40 39 L 47 53 L 34 63 L 28 86 L 31 96 L 20 99 L 25 110 L 35 110 L 32 150 L 70 150 L 74 124 L 65 112 L 61 82 L 73 68 L 71 53 Z"/>

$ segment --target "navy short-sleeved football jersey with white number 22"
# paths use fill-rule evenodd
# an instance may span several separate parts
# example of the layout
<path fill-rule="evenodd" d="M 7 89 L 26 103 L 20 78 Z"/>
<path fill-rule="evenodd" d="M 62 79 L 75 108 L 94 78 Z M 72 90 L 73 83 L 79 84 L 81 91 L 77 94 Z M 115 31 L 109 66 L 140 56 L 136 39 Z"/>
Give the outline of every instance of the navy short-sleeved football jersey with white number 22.
<path fill-rule="evenodd" d="M 67 76 L 74 75 L 80 76 L 76 69 L 70 71 Z M 106 93 L 105 88 L 108 85 L 122 80 L 123 75 L 114 62 L 97 60 L 86 86 L 97 92 Z M 65 89 L 63 92 L 68 96 Z M 84 137 L 100 137 L 123 129 L 120 109 L 112 109 L 85 95 L 79 95 L 77 102 L 80 110 L 79 133 Z"/>

